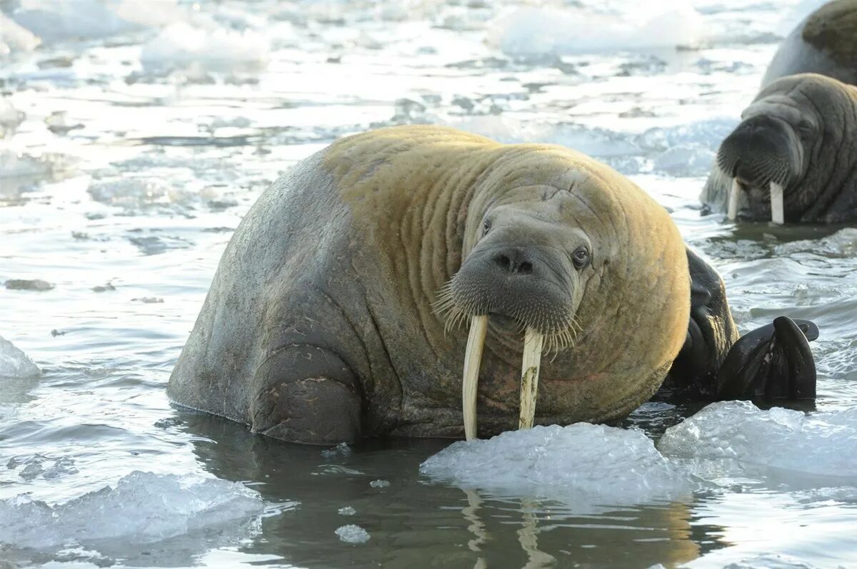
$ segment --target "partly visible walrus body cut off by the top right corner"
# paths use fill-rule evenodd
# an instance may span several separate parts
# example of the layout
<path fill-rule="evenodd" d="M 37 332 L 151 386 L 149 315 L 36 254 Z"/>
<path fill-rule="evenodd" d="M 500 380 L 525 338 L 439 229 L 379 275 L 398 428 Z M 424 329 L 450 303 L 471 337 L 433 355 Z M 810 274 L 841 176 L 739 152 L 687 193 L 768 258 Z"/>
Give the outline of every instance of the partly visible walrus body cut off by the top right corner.
<path fill-rule="evenodd" d="M 857 0 L 825 3 L 801 21 L 780 44 L 762 86 L 801 73 L 857 85 Z"/>

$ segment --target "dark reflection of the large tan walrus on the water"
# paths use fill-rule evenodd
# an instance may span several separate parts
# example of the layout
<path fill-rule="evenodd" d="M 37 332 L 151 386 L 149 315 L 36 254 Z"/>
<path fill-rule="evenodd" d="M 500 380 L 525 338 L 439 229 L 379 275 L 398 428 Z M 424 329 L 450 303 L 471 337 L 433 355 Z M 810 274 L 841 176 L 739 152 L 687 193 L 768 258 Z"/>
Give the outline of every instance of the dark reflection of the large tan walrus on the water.
<path fill-rule="evenodd" d="M 179 428 L 217 477 L 243 481 L 266 501 L 297 501 L 261 520 L 264 539 L 246 540 L 247 554 L 273 555 L 298 566 L 551 567 L 678 566 L 700 554 L 691 507 L 608 504 L 581 513 L 574 504 L 492 495 L 428 483 L 419 464 L 445 447 L 439 440 L 372 440 L 345 448 L 286 444 L 242 425 L 182 413 Z M 390 482 L 374 488 L 376 479 Z M 353 516 L 339 514 L 351 506 Z M 356 524 L 369 542 L 340 542 L 334 531 Z M 713 531 L 713 530 L 712 530 Z M 715 532 L 716 533 L 716 532 Z M 630 544 L 630 545 L 629 545 Z M 706 548 L 716 548 L 709 543 Z"/>

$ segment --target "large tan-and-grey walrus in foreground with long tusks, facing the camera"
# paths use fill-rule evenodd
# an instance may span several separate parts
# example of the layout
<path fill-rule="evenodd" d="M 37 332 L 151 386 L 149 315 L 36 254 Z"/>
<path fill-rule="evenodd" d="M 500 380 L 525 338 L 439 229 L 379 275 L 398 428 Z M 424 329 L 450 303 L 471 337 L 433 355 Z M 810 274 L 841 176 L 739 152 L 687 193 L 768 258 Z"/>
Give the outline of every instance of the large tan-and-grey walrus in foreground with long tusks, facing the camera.
<path fill-rule="evenodd" d="M 719 276 L 613 169 L 558 145 L 389 127 L 262 193 L 168 393 L 289 442 L 473 438 L 619 420 L 674 362 L 710 387 L 736 339 Z M 787 352 L 775 382 L 794 376 Z M 745 360 L 730 368 L 743 392 L 769 373 Z"/>

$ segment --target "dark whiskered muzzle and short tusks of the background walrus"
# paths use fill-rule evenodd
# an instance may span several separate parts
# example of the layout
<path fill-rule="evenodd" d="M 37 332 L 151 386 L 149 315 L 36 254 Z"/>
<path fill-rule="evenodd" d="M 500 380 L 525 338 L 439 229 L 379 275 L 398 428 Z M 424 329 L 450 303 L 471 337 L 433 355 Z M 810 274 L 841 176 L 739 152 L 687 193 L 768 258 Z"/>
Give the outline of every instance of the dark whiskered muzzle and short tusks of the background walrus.
<path fill-rule="evenodd" d="M 788 122 L 773 116 L 752 116 L 723 140 L 717 166 L 732 179 L 728 218 L 738 216 L 740 194 L 752 188 L 770 193 L 770 218 L 785 222 L 784 188 L 800 176 L 800 138 Z"/>

